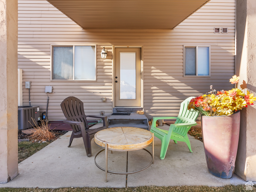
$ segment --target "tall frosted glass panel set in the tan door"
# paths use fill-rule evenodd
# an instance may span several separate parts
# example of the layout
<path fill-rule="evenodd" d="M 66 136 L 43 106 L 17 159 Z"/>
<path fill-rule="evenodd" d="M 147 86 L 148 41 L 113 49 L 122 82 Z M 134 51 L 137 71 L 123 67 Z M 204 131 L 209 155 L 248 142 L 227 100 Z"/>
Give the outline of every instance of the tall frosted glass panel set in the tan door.
<path fill-rule="evenodd" d="M 120 99 L 136 99 L 136 53 L 120 53 Z"/>

